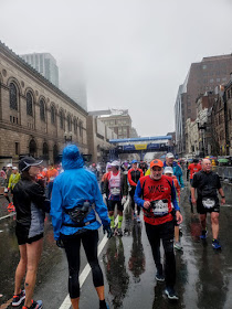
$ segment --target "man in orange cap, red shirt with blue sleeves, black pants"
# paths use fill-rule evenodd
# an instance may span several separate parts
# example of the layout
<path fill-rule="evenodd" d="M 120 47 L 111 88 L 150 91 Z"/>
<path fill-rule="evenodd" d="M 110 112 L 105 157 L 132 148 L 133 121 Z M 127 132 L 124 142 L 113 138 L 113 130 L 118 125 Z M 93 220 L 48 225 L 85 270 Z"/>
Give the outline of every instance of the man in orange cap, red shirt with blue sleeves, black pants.
<path fill-rule="evenodd" d="M 135 202 L 144 210 L 144 221 L 148 241 L 151 246 L 157 268 L 156 279 L 166 280 L 166 290 L 169 299 L 178 299 L 175 291 L 176 260 L 173 253 L 173 214 L 176 211 L 178 224 L 182 222 L 180 207 L 176 199 L 176 190 L 171 178 L 164 175 L 162 161 L 155 159 L 150 162 L 150 175 L 143 177 L 136 187 Z M 160 239 L 165 249 L 165 277 L 160 263 Z"/>

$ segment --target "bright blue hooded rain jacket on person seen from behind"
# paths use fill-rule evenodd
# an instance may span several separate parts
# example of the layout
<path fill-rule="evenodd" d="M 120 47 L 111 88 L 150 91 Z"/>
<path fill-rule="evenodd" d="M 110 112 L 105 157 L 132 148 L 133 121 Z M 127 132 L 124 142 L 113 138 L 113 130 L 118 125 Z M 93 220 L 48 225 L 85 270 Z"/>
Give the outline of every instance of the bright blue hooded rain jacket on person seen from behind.
<path fill-rule="evenodd" d="M 89 203 L 95 203 L 95 211 L 104 226 L 110 224 L 108 212 L 103 196 L 99 192 L 96 177 L 85 168 L 78 148 L 75 145 L 70 145 L 63 150 L 62 166 L 64 172 L 57 175 L 54 180 L 51 200 L 51 216 L 54 230 L 54 238 L 60 238 L 60 233 L 64 235 L 73 235 L 77 231 L 97 230 L 101 226 L 98 221 L 95 221 L 85 227 L 64 226 L 63 223 L 72 224 L 70 215 L 64 212 L 64 209 L 73 209 L 77 203 L 82 204 L 88 200 Z M 96 219 L 95 211 L 84 219 L 88 222 Z"/>

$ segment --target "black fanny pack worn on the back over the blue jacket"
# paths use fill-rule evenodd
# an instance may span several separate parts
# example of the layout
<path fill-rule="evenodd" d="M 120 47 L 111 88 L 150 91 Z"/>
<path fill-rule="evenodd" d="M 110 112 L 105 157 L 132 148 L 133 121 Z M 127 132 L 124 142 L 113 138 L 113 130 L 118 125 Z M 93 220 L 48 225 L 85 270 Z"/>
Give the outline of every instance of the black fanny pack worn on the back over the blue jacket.
<path fill-rule="evenodd" d="M 89 212 L 93 210 L 94 204 L 91 204 L 88 201 L 85 201 L 83 204 L 77 204 L 75 207 L 67 210 L 65 209 L 64 212 L 70 215 L 70 219 L 72 220 L 73 223 L 63 223 L 65 226 L 75 226 L 75 227 L 82 227 L 86 226 L 96 219 L 88 221 L 88 222 L 83 222 L 84 219 L 89 214 Z"/>

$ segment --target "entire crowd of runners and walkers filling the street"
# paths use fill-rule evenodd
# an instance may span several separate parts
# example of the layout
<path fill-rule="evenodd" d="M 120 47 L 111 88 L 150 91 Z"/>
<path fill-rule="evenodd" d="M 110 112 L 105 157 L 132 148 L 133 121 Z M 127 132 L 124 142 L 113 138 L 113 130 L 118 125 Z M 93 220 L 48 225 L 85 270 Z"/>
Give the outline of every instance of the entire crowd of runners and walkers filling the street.
<path fill-rule="evenodd" d="M 20 263 L 15 270 L 15 286 L 12 306 L 23 309 L 40 309 L 42 301 L 33 300 L 36 271 L 42 254 L 44 219 L 50 213 L 54 239 L 65 249 L 68 263 L 68 292 L 74 309 L 80 302 L 80 247 L 83 244 L 92 268 L 93 284 L 99 298 L 99 308 L 109 308 L 105 301 L 104 278 L 97 258 L 97 243 L 102 221 L 107 237 L 124 235 L 123 219 L 126 203 L 131 207 L 133 220 L 141 223 L 141 211 L 148 242 L 156 265 L 156 280 L 165 281 L 165 292 L 171 300 L 178 300 L 176 285 L 175 248 L 182 251 L 180 242 L 181 190 L 184 188 L 182 168 L 167 153 L 162 162 L 154 159 L 131 162 L 115 160 L 105 167 L 101 178 L 99 166 L 84 167 L 83 158 L 75 145 L 63 151 L 62 166 L 42 167 L 42 161 L 32 157 L 22 158 L 17 167 L 9 164 L 4 171 L 4 196 L 8 210 L 17 212 L 15 234 L 20 249 Z M 207 214 L 211 216 L 212 247 L 220 249 L 219 212 L 225 203 L 220 178 L 212 171 L 211 161 L 193 160 L 187 169 L 190 179 L 189 202 L 191 212 L 197 206 L 202 232 L 208 236 Z M 101 192 L 102 191 L 102 192 Z M 197 195 L 196 195 L 197 193 Z M 10 196 L 13 201 L 10 201 Z M 117 213 L 117 219 L 116 219 Z M 160 245 L 165 254 L 161 263 Z M 21 289 L 25 276 L 24 289 Z"/>

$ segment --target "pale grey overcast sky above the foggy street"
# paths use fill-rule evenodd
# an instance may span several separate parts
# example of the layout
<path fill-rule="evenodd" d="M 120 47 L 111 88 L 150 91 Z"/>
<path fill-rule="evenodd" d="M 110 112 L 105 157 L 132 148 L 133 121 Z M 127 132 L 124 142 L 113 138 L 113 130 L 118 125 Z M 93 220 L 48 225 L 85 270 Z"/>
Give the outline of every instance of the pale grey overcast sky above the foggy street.
<path fill-rule="evenodd" d="M 85 72 L 88 110 L 126 108 L 140 136 L 175 130 L 190 64 L 232 52 L 231 0 L 1 0 L 0 40 L 50 52 L 60 84 Z"/>

